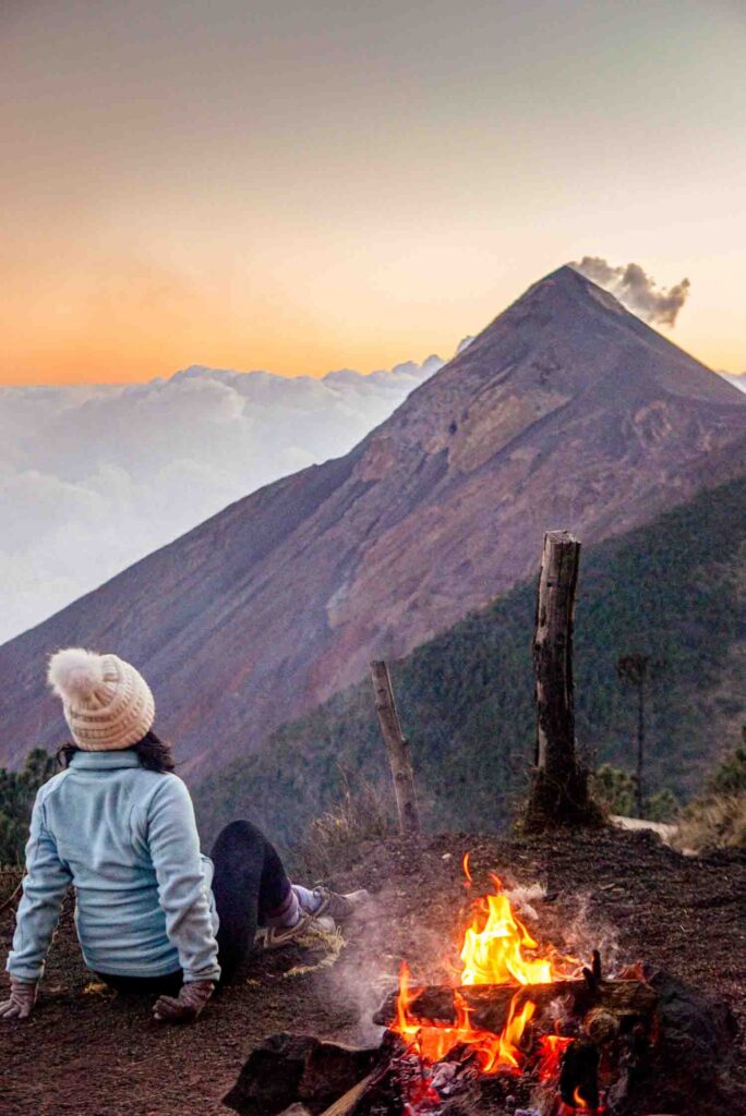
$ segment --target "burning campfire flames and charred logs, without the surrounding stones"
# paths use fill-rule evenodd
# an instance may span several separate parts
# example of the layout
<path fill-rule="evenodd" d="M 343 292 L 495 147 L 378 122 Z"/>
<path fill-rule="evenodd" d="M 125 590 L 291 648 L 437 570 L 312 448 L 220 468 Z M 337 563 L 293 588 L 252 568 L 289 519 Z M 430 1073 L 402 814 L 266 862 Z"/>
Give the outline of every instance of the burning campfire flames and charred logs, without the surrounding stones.
<path fill-rule="evenodd" d="M 463 870 L 471 883 L 468 854 Z M 650 998 L 641 994 L 639 981 L 603 981 L 597 951 L 584 966 L 551 945 L 539 946 L 500 879 L 492 875 L 491 882 L 494 892 L 474 904 L 452 989 L 415 989 L 402 964 L 389 1023 L 389 1035 L 402 1045 L 392 1059 L 402 1112 L 440 1113 L 450 1098 L 474 1093 L 475 1083 L 491 1077 L 496 1087 L 487 1091 L 504 1100 L 506 1112 L 522 1110 L 519 1091 L 529 1094 L 530 1107 L 523 1110 L 541 1116 L 604 1113 L 618 1060 L 610 1057 L 611 1047 L 622 1022 L 638 1043 L 649 1038 L 641 1024 Z M 384 1006 L 379 1018 L 388 1022 L 390 1013 Z M 599 1041 L 608 1047 L 603 1088 Z"/>

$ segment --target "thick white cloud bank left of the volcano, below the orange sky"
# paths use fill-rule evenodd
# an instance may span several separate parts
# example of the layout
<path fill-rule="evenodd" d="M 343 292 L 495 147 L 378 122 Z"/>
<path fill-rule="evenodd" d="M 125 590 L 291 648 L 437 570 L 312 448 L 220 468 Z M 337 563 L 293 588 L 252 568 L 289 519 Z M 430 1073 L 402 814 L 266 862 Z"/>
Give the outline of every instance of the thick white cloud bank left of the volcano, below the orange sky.
<path fill-rule="evenodd" d="M 442 364 L 0 389 L 0 642 L 232 500 L 346 453 Z"/>

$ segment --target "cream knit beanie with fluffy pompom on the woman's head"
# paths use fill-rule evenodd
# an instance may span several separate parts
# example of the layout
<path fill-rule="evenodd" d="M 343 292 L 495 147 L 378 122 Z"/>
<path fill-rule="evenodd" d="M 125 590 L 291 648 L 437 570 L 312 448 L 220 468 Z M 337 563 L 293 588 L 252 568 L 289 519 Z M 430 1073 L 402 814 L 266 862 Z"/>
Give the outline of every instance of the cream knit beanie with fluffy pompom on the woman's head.
<path fill-rule="evenodd" d="M 63 699 L 75 743 L 86 752 L 130 748 L 152 728 L 155 702 L 150 686 L 116 655 L 67 647 L 49 660 L 47 681 Z"/>

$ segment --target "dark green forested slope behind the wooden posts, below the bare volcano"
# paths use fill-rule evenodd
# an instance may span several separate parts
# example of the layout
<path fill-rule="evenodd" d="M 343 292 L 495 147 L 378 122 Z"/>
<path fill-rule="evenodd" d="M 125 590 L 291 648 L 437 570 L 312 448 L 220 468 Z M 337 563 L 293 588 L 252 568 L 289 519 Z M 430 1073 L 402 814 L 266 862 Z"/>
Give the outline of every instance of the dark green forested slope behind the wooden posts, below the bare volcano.
<path fill-rule="evenodd" d="M 616 677 L 631 651 L 663 663 L 648 702 L 645 793 L 681 801 L 746 722 L 746 479 L 583 548 L 575 629 L 578 741 L 634 769 L 637 704 Z M 535 579 L 392 663 L 424 824 L 494 829 L 525 793 L 535 739 Z M 272 733 L 197 791 L 201 831 L 249 816 L 293 841 L 332 807 L 343 772 L 393 802 L 369 679 Z"/>

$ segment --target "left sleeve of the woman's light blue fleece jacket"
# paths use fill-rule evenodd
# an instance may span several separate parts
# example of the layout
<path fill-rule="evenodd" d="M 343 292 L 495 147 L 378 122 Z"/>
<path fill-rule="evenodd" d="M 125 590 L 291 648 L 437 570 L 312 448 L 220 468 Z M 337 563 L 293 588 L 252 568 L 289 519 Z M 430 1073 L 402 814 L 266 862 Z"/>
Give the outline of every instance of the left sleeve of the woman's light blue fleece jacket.
<path fill-rule="evenodd" d="M 44 788 L 31 811 L 31 831 L 26 846 L 23 894 L 16 915 L 16 933 L 6 969 L 20 980 L 38 980 L 59 921 L 65 892 L 73 882 L 60 859 L 55 838 L 45 820 Z"/>

